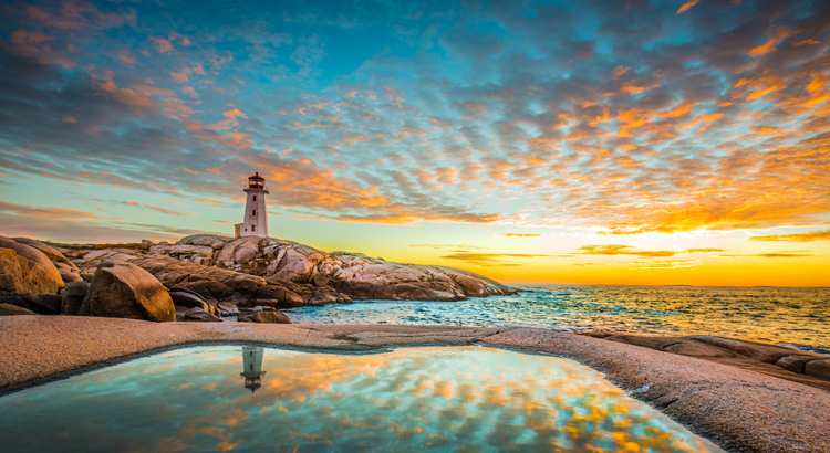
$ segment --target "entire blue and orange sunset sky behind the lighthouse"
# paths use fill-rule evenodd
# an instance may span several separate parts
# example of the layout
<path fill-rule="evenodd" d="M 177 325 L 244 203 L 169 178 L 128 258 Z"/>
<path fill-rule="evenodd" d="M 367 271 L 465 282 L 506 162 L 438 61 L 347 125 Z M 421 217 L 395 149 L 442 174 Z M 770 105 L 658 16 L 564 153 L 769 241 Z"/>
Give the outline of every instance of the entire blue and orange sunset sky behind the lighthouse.
<path fill-rule="evenodd" d="M 830 286 L 830 2 L 0 3 L 0 234 Z"/>

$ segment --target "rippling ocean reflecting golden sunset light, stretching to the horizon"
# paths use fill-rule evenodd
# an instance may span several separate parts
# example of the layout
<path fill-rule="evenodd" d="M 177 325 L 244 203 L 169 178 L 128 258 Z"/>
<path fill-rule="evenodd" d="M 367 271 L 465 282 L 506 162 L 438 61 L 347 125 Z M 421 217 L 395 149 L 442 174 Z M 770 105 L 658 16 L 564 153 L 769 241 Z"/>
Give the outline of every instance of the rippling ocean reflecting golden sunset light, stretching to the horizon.
<path fill-rule="evenodd" d="M 715 335 L 830 354 L 830 288 L 512 285 L 512 296 L 362 301 L 286 310 L 295 324 L 523 326 Z"/>

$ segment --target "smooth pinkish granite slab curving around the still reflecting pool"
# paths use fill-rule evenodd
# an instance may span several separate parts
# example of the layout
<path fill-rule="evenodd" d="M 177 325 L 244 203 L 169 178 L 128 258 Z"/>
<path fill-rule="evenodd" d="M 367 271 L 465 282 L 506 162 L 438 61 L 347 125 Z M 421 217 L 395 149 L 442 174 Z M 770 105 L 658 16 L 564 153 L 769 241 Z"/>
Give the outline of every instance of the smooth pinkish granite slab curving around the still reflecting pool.
<path fill-rule="evenodd" d="M 582 362 L 727 451 L 830 451 L 826 389 L 738 364 L 587 335 L 533 328 L 148 323 L 75 316 L 0 317 L 0 392 L 187 345 L 259 344 L 369 354 L 479 344 Z"/>

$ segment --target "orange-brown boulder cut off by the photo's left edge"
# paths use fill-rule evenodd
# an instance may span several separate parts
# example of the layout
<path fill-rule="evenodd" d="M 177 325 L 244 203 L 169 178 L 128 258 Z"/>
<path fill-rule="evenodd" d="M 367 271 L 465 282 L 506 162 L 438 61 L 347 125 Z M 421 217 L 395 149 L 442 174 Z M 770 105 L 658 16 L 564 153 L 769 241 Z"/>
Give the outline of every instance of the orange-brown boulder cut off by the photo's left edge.
<path fill-rule="evenodd" d="M 63 286 L 60 274 L 55 280 L 42 264 L 27 260 L 19 255 L 14 249 L 6 247 L 3 245 L 6 241 L 2 238 L 0 238 L 0 241 L 2 241 L 0 242 L 0 289 L 9 293 L 55 294 L 58 288 Z M 34 249 L 31 250 L 38 252 Z M 49 265 L 54 270 L 51 262 L 49 262 Z M 61 283 L 60 286 L 58 281 Z"/>

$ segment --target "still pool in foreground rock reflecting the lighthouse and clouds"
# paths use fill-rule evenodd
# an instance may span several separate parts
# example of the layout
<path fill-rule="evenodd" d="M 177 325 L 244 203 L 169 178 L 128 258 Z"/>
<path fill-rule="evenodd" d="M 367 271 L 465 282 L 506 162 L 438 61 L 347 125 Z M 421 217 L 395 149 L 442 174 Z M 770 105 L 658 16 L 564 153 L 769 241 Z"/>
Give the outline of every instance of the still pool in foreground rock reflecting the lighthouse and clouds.
<path fill-rule="evenodd" d="M 0 398 L 10 452 L 720 452 L 557 357 L 177 349 Z"/>

